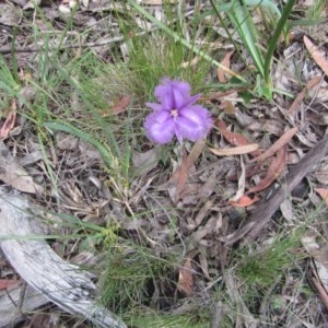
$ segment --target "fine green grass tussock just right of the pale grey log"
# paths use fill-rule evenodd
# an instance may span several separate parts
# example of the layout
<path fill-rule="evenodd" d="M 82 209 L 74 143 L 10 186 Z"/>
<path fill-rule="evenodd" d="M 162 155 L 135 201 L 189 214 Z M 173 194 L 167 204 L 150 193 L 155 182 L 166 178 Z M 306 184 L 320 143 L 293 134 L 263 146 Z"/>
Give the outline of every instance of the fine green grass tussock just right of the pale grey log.
<path fill-rule="evenodd" d="M 168 305 L 171 301 L 162 294 L 163 286 L 173 283 L 168 277 L 174 278 L 173 262 L 156 257 L 147 247 L 115 243 L 108 248 L 99 302 L 116 313 L 125 313 L 142 304 L 161 303 L 152 300 L 155 294 Z"/>

